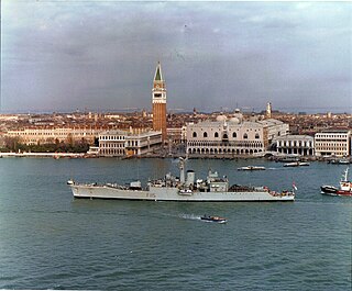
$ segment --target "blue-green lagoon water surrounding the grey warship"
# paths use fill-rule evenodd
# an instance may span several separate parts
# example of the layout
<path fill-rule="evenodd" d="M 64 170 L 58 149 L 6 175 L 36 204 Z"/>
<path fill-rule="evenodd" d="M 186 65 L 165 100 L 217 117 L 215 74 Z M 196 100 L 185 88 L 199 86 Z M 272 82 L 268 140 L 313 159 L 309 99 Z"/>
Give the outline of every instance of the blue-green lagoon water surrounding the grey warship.
<path fill-rule="evenodd" d="M 265 166 L 243 172 L 238 167 Z M 350 290 L 352 199 L 320 194 L 345 166 L 189 160 L 231 183 L 298 187 L 295 202 L 74 200 L 66 181 L 146 181 L 172 159 L 0 159 L 0 289 Z M 202 214 L 228 219 L 205 223 Z"/>

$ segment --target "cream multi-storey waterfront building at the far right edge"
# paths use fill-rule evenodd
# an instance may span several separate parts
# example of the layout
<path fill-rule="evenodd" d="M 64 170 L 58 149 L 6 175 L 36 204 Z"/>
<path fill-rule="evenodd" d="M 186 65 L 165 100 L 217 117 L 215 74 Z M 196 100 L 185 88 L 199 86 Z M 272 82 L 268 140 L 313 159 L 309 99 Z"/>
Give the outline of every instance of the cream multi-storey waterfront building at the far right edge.
<path fill-rule="evenodd" d="M 316 133 L 316 156 L 351 156 L 351 130 Z"/>

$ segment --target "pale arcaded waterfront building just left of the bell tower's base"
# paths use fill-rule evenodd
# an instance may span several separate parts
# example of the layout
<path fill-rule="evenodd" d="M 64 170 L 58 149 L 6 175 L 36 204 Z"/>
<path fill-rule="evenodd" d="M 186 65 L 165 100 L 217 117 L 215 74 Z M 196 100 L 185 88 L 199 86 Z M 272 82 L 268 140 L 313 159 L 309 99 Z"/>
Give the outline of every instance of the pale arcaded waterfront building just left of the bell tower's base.
<path fill-rule="evenodd" d="M 143 156 L 162 146 L 162 132 L 107 131 L 99 135 L 99 156 Z"/>

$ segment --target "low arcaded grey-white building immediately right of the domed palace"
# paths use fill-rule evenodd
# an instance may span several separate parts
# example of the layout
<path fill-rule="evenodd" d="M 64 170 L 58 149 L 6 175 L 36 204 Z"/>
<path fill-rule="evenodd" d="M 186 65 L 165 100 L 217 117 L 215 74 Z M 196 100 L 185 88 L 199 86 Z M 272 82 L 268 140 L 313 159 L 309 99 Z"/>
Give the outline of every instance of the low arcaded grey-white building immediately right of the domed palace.
<path fill-rule="evenodd" d="M 315 138 L 309 135 L 286 135 L 276 137 L 276 152 L 302 156 L 315 155 Z"/>

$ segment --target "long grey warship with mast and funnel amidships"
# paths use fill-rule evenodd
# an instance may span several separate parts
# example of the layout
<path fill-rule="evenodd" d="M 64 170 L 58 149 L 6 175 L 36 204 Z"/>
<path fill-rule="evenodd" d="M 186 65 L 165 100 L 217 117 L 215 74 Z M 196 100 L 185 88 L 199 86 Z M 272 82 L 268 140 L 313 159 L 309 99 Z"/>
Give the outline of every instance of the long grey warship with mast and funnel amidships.
<path fill-rule="evenodd" d="M 267 187 L 249 187 L 229 184 L 227 177 L 219 177 L 217 171 L 209 170 L 206 179 L 196 179 L 195 171 L 185 174 L 185 159 L 179 158 L 179 178 L 166 174 L 164 178 L 150 180 L 146 187 L 141 181 L 129 186 L 117 183 L 78 183 L 69 180 L 75 198 L 121 199 L 147 201 L 184 201 L 184 202 L 237 202 L 237 201 L 294 201 L 295 191 L 272 191 Z"/>

